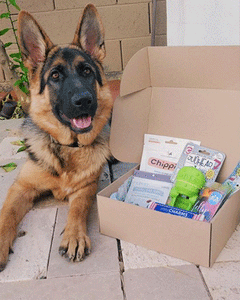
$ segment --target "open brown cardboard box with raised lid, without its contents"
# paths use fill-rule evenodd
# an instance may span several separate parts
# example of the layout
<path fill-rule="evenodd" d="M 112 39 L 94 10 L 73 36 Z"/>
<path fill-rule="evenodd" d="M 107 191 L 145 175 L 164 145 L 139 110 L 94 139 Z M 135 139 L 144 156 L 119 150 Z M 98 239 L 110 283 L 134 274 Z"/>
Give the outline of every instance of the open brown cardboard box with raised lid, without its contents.
<path fill-rule="evenodd" d="M 114 103 L 113 155 L 139 163 L 145 133 L 200 140 L 226 154 L 222 182 L 240 159 L 239 74 L 239 46 L 140 50 L 124 70 Z M 240 221 L 240 192 L 205 223 L 110 199 L 132 172 L 98 194 L 101 233 L 212 266 Z"/>

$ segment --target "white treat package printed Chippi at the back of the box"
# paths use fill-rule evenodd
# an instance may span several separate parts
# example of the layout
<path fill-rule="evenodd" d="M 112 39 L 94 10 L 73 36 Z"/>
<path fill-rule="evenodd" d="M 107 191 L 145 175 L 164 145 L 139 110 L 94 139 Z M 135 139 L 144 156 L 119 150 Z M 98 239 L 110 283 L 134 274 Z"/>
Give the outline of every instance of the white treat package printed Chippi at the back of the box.
<path fill-rule="evenodd" d="M 189 142 L 200 145 L 199 141 L 145 134 L 140 170 L 171 175 Z"/>

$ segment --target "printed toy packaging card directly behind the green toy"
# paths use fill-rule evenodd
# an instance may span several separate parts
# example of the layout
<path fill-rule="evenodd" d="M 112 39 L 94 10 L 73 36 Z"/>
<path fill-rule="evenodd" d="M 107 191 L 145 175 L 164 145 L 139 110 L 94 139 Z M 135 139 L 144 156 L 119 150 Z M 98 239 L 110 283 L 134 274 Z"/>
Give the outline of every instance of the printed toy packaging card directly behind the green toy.
<path fill-rule="evenodd" d="M 192 142 L 187 143 L 171 180 L 175 181 L 178 171 L 184 166 L 193 166 L 203 172 L 206 185 L 209 186 L 215 182 L 224 160 L 225 154 L 223 152 L 199 146 Z"/>

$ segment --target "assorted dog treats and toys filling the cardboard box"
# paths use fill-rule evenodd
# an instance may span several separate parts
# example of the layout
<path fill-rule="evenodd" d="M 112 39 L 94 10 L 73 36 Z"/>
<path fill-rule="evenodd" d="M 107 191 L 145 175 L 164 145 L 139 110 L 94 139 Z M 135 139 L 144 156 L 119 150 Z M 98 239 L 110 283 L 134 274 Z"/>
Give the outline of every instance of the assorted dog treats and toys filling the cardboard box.
<path fill-rule="evenodd" d="M 225 154 L 200 144 L 145 134 L 140 169 L 111 198 L 210 222 L 240 189 L 240 162 L 222 184 L 217 183 Z"/>

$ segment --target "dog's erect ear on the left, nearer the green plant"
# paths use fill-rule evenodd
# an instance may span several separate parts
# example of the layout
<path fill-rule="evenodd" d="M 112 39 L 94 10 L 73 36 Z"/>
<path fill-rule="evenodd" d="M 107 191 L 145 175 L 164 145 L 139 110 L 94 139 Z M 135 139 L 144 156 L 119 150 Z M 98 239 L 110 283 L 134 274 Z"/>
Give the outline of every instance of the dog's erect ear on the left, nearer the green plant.
<path fill-rule="evenodd" d="M 26 11 L 21 11 L 18 15 L 18 40 L 24 63 L 28 68 L 36 68 L 53 47 L 44 30 Z"/>

